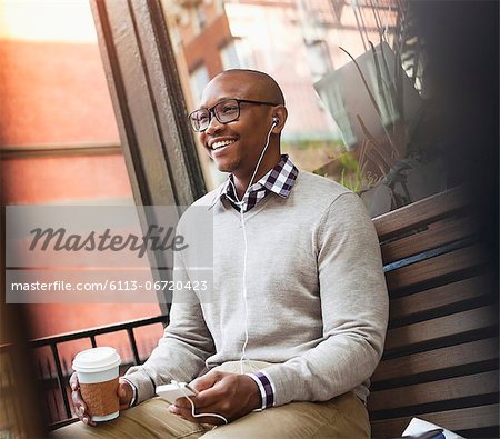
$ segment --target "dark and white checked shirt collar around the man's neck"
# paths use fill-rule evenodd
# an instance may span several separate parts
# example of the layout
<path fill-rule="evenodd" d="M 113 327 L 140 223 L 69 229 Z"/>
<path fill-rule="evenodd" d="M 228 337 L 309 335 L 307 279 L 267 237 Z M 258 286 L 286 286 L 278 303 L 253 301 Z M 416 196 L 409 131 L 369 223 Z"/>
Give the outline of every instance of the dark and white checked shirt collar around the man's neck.
<path fill-rule="evenodd" d="M 280 162 L 250 187 L 242 200 L 243 212 L 248 212 L 250 209 L 254 208 L 259 201 L 271 192 L 287 198 L 290 194 L 298 174 L 299 170 L 292 163 L 288 154 L 282 154 Z M 234 203 L 237 197 L 234 193 L 232 174 L 228 177 L 226 184 L 221 189 L 219 198 L 227 198 L 231 202 L 232 207 L 240 210 L 240 208 Z"/>

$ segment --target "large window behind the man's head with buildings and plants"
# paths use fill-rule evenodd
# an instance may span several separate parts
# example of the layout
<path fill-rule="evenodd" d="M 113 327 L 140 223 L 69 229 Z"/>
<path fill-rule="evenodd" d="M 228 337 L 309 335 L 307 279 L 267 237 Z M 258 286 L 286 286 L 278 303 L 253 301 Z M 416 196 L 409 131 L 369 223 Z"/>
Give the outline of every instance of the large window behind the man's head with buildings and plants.
<path fill-rule="evenodd" d="M 193 78 L 203 69 L 209 79 L 233 67 L 271 74 L 289 111 L 283 152 L 299 168 L 360 193 L 372 216 L 450 184 L 430 137 L 434 90 L 412 2 L 163 4 L 181 74 Z M 200 10 L 203 27 L 191 19 Z M 199 82 L 184 90 L 192 107 Z M 204 152 L 202 163 L 209 189 L 224 180 Z"/>

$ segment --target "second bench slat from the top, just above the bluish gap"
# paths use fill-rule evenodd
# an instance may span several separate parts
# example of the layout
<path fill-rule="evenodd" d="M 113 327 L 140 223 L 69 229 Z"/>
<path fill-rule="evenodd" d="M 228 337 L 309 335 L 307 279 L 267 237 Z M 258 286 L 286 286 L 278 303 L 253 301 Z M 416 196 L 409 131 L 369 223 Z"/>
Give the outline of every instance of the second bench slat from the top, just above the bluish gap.
<path fill-rule="evenodd" d="M 470 217 L 433 222 L 418 233 L 381 246 L 383 263 L 393 262 L 422 251 L 474 235 L 478 225 Z"/>

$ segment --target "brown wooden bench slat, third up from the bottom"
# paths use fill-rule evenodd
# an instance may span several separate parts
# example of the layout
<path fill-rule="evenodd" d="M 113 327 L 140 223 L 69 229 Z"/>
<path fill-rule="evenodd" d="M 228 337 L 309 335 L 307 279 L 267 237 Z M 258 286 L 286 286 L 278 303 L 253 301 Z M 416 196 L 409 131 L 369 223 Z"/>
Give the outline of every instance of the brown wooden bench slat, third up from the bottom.
<path fill-rule="evenodd" d="M 371 381 L 377 383 L 394 377 L 404 378 L 418 373 L 428 373 L 436 370 L 494 360 L 499 358 L 498 343 L 499 339 L 493 337 L 384 360 L 377 368 Z"/>

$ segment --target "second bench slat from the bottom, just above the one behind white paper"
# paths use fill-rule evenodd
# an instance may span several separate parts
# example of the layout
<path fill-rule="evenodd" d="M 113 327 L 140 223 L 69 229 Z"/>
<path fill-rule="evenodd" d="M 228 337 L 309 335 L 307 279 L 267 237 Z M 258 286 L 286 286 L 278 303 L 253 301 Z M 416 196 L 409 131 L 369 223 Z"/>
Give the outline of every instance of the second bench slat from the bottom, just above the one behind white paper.
<path fill-rule="evenodd" d="M 499 372 L 490 371 L 466 377 L 448 378 L 439 381 L 374 391 L 370 395 L 370 411 L 391 410 L 422 403 L 447 401 L 498 392 Z"/>

